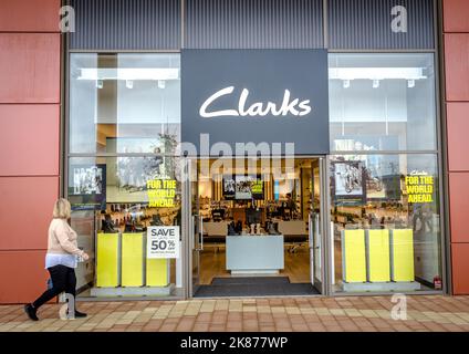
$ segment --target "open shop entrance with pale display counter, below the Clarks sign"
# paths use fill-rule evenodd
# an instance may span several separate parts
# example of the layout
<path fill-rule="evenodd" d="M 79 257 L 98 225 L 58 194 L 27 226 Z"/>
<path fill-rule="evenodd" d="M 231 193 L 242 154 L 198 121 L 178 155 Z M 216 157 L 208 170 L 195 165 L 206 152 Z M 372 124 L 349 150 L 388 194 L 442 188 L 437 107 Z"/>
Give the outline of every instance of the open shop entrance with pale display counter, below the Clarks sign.
<path fill-rule="evenodd" d="M 323 157 L 189 165 L 190 296 L 324 293 Z"/>

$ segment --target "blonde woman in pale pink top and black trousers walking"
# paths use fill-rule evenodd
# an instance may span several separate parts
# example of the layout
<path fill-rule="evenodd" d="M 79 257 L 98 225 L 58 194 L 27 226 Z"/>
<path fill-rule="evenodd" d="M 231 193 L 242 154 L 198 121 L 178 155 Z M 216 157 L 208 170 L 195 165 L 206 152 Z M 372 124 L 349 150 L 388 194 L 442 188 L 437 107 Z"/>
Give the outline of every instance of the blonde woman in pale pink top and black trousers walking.
<path fill-rule="evenodd" d="M 88 256 L 79 249 L 76 232 L 69 225 L 71 206 L 69 200 L 55 201 L 53 219 L 49 226 L 48 253 L 45 256 L 45 268 L 52 279 L 52 289 L 46 290 L 33 303 L 24 305 L 28 316 L 38 321 L 37 312 L 41 305 L 52 300 L 61 292 L 75 296 L 76 277 L 75 268 L 77 257 L 88 260 Z M 75 317 L 85 317 L 86 314 L 75 310 Z"/>

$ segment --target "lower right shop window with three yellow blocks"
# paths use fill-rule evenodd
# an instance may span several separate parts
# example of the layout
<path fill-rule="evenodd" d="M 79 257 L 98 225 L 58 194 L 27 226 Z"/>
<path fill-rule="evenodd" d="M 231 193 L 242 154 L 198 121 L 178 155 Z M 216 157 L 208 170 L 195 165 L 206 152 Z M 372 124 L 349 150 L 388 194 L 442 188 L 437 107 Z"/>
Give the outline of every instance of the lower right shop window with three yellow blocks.
<path fill-rule="evenodd" d="M 436 155 L 336 155 L 330 176 L 334 291 L 441 290 Z"/>

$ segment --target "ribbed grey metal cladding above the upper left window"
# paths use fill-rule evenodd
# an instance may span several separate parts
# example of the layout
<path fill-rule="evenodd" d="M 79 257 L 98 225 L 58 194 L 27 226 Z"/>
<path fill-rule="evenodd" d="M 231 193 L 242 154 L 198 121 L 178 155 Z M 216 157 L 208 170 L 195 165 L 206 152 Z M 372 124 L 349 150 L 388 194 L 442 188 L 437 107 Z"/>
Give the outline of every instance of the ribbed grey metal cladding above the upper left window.
<path fill-rule="evenodd" d="M 179 0 L 72 0 L 71 50 L 178 50 Z"/>

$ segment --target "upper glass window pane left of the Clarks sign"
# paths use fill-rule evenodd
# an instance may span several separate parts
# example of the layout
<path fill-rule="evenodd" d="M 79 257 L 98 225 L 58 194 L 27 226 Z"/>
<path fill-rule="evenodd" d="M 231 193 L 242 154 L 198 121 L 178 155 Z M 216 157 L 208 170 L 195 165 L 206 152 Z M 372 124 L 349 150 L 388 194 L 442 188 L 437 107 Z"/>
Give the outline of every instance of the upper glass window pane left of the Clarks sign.
<path fill-rule="evenodd" d="M 70 153 L 170 155 L 179 140 L 179 54 L 71 55 Z"/>

